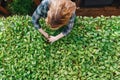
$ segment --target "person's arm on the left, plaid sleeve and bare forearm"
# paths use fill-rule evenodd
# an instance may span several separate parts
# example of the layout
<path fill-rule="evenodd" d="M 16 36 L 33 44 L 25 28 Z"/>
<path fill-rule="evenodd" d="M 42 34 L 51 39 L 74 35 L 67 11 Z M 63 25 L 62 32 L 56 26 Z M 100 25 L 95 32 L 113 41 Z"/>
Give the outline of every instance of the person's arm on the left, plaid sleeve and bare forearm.
<path fill-rule="evenodd" d="M 37 9 L 35 10 L 35 12 L 32 15 L 32 23 L 34 25 L 34 27 L 39 30 L 39 32 L 44 35 L 45 38 L 48 38 L 48 34 L 41 28 L 41 25 L 39 24 L 39 19 L 44 17 L 44 11 L 46 11 L 46 9 L 43 8 L 47 8 L 48 6 L 48 0 L 44 0 L 41 2 L 41 4 L 37 7 Z"/>

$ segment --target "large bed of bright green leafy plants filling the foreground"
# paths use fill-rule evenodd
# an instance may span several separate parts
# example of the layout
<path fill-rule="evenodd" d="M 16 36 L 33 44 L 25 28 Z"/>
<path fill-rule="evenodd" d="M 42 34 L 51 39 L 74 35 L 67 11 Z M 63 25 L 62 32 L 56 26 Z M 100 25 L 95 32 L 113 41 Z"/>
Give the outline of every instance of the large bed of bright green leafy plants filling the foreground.
<path fill-rule="evenodd" d="M 120 16 L 77 17 L 72 32 L 53 44 L 30 21 L 0 18 L 1 80 L 120 79 Z"/>

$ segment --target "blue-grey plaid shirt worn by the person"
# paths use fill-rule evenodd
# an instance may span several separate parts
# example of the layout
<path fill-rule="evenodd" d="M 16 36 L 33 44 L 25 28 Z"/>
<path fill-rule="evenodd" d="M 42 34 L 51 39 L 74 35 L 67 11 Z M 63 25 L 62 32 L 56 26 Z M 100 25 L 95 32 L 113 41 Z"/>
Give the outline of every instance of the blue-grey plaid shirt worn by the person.
<path fill-rule="evenodd" d="M 41 25 L 39 24 L 39 19 L 46 18 L 47 17 L 47 12 L 49 10 L 49 4 L 50 0 L 43 0 L 41 4 L 37 7 L 35 12 L 32 15 L 32 23 L 34 24 L 34 27 L 36 29 L 40 29 Z M 73 28 L 74 25 L 74 20 L 75 20 L 75 13 L 71 16 L 68 24 L 66 25 L 67 27 L 62 31 L 63 35 L 67 35 Z"/>

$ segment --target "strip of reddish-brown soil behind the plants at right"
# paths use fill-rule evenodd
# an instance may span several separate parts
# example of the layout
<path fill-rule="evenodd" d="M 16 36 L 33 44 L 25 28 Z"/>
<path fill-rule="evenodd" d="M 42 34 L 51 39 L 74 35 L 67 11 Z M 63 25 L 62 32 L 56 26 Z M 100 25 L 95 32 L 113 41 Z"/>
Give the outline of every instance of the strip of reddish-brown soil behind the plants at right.
<path fill-rule="evenodd" d="M 120 16 L 120 8 L 117 7 L 102 7 L 102 8 L 78 8 L 77 16 Z"/>

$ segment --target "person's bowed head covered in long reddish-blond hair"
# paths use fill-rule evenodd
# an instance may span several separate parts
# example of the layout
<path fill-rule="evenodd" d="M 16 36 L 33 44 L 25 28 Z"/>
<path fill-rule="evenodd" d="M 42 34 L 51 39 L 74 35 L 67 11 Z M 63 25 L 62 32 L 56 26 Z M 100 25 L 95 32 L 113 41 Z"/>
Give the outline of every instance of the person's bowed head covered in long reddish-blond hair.
<path fill-rule="evenodd" d="M 76 10 L 76 5 L 71 0 L 51 0 L 46 22 L 51 29 L 58 29 L 68 23 Z"/>

